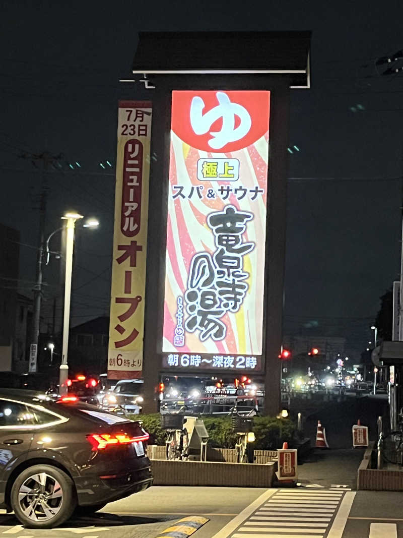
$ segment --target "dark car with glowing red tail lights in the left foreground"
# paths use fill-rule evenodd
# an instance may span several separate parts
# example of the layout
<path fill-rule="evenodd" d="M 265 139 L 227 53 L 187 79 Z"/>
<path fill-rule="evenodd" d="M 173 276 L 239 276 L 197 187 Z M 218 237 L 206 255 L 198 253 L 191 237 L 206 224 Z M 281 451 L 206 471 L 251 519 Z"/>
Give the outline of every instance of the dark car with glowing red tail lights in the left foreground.
<path fill-rule="evenodd" d="M 0 507 L 52 528 L 145 490 L 147 440 L 140 422 L 71 395 L 0 389 Z"/>

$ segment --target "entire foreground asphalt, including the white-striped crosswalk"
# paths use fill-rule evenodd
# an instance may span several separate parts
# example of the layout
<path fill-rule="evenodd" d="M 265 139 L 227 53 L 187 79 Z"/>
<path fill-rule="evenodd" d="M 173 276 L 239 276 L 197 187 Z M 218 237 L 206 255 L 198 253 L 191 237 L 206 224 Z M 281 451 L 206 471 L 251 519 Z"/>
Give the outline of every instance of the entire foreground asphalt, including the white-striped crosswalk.
<path fill-rule="evenodd" d="M 402 500 L 403 493 L 329 487 L 156 486 L 52 530 L 25 529 L 0 514 L 0 536 L 156 538 L 183 516 L 203 515 L 209 521 L 195 538 L 403 538 Z"/>

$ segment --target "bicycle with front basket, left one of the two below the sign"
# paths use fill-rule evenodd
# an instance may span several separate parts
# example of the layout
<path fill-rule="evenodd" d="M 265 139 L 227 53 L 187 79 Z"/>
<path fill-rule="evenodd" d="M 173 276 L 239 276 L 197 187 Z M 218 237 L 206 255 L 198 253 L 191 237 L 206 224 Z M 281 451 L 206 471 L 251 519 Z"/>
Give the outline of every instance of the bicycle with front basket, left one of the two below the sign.
<path fill-rule="evenodd" d="M 165 440 L 166 454 L 168 460 L 179 459 L 185 461 L 189 455 L 189 435 L 184 428 L 186 419 L 183 414 L 186 410 L 182 406 L 175 413 L 161 415 L 162 427 L 167 430 Z"/>

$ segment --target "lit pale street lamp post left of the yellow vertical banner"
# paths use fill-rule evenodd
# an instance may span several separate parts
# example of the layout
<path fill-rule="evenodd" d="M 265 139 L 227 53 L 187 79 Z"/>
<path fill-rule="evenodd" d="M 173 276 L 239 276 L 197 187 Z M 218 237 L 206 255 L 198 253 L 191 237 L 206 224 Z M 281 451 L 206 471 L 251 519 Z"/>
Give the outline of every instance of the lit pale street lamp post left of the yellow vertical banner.
<path fill-rule="evenodd" d="M 78 213 L 66 213 L 63 220 L 67 221 L 66 239 L 66 279 L 64 281 L 64 313 L 63 313 L 63 340 L 62 340 L 62 360 L 59 372 L 59 392 L 61 395 L 67 394 L 67 378 L 69 367 L 67 365 L 67 350 L 69 343 L 69 322 L 70 322 L 70 297 L 71 297 L 71 273 L 73 272 L 73 246 L 74 228 L 77 220 L 84 218 Z M 90 224 L 91 223 L 91 224 Z M 98 226 L 98 221 L 91 220 L 86 223 L 88 228 Z"/>

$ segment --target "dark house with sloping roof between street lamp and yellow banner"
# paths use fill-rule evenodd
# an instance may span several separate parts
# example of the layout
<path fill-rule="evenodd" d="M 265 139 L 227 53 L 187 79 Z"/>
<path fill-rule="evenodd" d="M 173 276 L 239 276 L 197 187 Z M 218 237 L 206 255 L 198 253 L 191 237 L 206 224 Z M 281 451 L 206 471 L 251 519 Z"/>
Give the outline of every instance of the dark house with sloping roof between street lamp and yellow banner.
<path fill-rule="evenodd" d="M 82 370 L 88 374 L 107 370 L 109 316 L 76 325 L 70 329 L 68 364 L 73 373 Z"/>

